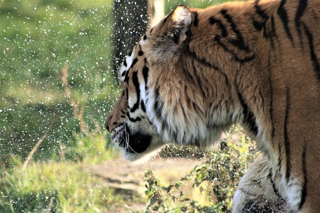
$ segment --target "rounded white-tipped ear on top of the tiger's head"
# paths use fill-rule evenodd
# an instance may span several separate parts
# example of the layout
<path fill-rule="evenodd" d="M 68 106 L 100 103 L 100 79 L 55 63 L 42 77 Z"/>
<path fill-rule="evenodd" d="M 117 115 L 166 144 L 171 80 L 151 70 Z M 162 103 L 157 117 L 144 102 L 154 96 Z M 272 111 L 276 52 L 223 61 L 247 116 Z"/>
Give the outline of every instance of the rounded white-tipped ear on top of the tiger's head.
<path fill-rule="evenodd" d="M 192 17 L 188 8 L 179 5 L 164 19 L 164 24 L 159 29 L 158 35 L 179 44 L 186 40 L 186 32 L 189 30 L 191 22 Z"/>

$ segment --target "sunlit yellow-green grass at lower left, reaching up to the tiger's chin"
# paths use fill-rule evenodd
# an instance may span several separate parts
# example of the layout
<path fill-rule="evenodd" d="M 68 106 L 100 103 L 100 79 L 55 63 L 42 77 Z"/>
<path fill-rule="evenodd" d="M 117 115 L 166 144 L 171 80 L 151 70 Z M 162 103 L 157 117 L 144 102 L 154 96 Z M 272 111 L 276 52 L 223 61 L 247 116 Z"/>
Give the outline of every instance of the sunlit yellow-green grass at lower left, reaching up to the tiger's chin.
<path fill-rule="evenodd" d="M 108 212 L 123 203 L 142 202 L 138 197 L 125 200 L 125 192 L 105 186 L 104 179 L 84 169 L 116 155 L 105 148 L 105 132 L 76 138 L 74 149 L 61 147 L 61 156 L 31 161 L 25 168 L 25 160 L 11 155 L 11 167 L 1 169 L 0 212 Z"/>

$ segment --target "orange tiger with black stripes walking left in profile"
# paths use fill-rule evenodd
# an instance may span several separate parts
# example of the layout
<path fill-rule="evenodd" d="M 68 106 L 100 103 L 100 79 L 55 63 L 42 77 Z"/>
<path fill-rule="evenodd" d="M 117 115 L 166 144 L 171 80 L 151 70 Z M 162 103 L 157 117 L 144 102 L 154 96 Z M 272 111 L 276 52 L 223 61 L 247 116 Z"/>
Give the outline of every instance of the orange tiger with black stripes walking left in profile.
<path fill-rule="evenodd" d="M 129 161 L 209 148 L 233 124 L 261 156 L 233 212 L 320 212 L 320 0 L 178 5 L 119 68 L 105 121 Z"/>

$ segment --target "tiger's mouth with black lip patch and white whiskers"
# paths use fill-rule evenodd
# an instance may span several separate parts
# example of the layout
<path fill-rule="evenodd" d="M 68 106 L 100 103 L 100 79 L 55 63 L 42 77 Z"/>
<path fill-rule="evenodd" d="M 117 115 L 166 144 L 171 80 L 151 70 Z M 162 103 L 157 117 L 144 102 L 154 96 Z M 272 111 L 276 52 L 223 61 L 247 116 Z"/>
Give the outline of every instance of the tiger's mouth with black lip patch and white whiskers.
<path fill-rule="evenodd" d="M 118 130 L 118 131 L 117 131 Z M 140 154 L 150 147 L 152 136 L 143 133 L 132 134 L 126 125 L 118 127 L 112 139 L 115 144 L 128 153 Z"/>

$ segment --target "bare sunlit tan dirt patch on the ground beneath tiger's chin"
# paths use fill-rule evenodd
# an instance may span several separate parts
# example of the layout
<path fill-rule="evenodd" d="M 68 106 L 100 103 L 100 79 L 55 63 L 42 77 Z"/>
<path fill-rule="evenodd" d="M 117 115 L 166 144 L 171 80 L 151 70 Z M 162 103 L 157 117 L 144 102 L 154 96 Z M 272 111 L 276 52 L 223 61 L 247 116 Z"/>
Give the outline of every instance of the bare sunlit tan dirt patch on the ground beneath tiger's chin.
<path fill-rule="evenodd" d="M 125 190 L 128 194 L 128 200 L 132 194 L 143 196 L 146 190 L 144 172 L 151 168 L 154 175 L 169 184 L 172 181 L 180 180 L 181 177 L 190 173 L 196 165 L 205 161 L 203 159 L 183 158 L 183 157 L 159 157 L 145 161 L 142 164 L 136 164 L 126 161 L 122 156 L 117 159 L 102 162 L 98 165 L 90 165 L 84 169 L 90 174 L 97 175 L 105 180 L 106 186 L 116 188 L 116 190 Z M 130 209 L 130 210 L 129 210 Z M 144 210 L 145 204 L 134 203 L 124 204 L 123 207 L 112 210 L 111 212 L 132 212 Z M 108 211 L 109 212 L 109 211 Z"/>

